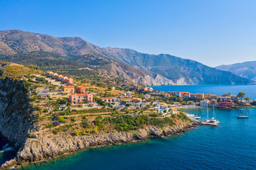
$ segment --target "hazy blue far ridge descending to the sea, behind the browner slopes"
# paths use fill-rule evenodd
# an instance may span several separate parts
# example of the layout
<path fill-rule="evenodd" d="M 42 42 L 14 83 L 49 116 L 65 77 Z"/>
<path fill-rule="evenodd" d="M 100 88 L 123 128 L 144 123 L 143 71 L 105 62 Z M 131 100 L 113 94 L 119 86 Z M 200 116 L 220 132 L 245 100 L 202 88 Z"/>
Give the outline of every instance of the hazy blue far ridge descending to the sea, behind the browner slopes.
<path fill-rule="evenodd" d="M 161 74 L 177 84 L 244 84 L 249 83 L 230 72 L 208 67 L 200 62 L 172 55 L 149 55 L 123 48 L 104 48 L 105 54 L 140 69 Z M 243 83 L 242 83 L 243 82 Z M 245 83 L 245 84 L 247 84 Z"/>

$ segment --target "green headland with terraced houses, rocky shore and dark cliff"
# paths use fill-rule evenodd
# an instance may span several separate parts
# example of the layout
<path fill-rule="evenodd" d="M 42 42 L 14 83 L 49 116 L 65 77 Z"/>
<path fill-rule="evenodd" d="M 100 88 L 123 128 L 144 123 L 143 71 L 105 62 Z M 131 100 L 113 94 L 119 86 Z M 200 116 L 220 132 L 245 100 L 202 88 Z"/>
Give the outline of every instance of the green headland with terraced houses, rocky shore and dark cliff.
<path fill-rule="evenodd" d="M 124 79 L 79 81 L 33 65 L 1 62 L 0 132 L 17 151 L 1 169 L 196 126 L 152 97 L 151 87 L 134 86 Z"/>

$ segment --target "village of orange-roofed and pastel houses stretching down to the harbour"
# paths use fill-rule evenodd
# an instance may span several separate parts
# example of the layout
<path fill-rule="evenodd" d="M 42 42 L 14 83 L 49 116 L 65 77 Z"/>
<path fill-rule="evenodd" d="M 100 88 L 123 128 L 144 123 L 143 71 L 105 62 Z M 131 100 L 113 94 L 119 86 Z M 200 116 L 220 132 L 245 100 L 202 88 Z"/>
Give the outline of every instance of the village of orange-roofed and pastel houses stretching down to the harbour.
<path fill-rule="evenodd" d="M 117 91 L 118 93 L 97 94 L 97 92 L 90 91 L 90 88 L 79 86 L 74 83 L 72 78 L 63 77 L 60 74 L 53 72 L 46 72 L 43 79 L 53 86 L 58 86 L 56 89 L 37 89 L 37 96 L 48 96 L 49 98 L 66 99 L 67 102 L 60 105 L 60 110 L 67 108 L 82 110 L 88 108 L 102 108 L 111 107 L 119 110 L 126 108 L 127 110 L 151 108 L 156 113 L 164 115 L 170 113 L 178 113 L 178 108 L 182 107 L 215 107 L 215 108 L 232 108 L 239 106 L 239 98 L 237 95 L 226 94 L 223 96 L 216 96 L 215 94 L 196 93 L 191 94 L 183 91 L 155 91 L 150 86 L 142 86 L 136 83 L 125 81 L 122 84 L 114 81 L 108 82 L 111 84 L 111 90 L 124 87 L 130 91 Z M 91 82 L 89 82 L 90 84 Z M 170 101 L 166 101 L 169 98 Z M 242 101 L 242 100 L 241 100 Z M 245 100 L 244 100 L 245 102 Z M 245 102 L 246 105 L 246 102 Z"/>

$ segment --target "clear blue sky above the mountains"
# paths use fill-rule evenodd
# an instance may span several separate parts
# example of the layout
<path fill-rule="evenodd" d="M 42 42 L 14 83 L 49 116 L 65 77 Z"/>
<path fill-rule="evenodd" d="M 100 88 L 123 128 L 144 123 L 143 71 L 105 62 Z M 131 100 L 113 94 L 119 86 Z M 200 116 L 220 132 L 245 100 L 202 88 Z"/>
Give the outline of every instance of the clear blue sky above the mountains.
<path fill-rule="evenodd" d="M 78 36 L 209 66 L 256 60 L 255 0 L 1 0 L 0 30 Z"/>

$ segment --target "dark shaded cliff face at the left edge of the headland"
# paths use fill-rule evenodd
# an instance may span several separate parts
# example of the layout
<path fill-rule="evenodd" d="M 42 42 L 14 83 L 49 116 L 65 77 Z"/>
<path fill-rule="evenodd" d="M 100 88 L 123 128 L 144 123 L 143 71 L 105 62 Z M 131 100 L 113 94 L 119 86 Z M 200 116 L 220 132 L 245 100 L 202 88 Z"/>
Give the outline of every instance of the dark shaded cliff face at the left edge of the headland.
<path fill-rule="evenodd" d="M 22 81 L 10 78 L 0 79 L 0 89 L 0 132 L 19 149 L 33 127 L 28 91 Z"/>

